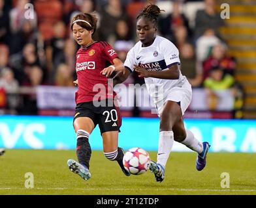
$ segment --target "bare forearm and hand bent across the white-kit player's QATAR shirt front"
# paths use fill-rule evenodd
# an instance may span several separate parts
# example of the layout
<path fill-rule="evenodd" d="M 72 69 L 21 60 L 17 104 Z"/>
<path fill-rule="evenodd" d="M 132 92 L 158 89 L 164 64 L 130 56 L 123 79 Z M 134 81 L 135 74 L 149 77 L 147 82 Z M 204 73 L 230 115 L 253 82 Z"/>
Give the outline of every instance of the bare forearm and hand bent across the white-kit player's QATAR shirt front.
<path fill-rule="evenodd" d="M 172 64 L 168 70 L 163 71 L 147 71 L 144 68 L 135 65 L 134 67 L 135 72 L 138 73 L 138 77 L 155 77 L 159 79 L 179 79 L 180 77 L 180 70 L 178 63 Z"/>

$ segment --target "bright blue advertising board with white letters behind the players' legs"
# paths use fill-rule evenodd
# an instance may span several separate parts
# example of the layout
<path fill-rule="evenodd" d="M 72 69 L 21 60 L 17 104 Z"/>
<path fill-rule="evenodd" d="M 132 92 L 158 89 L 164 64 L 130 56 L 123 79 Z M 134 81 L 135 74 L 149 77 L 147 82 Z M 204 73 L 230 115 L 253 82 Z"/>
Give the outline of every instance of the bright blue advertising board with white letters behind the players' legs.
<path fill-rule="evenodd" d="M 210 151 L 256 152 L 256 120 L 185 120 L 196 138 L 208 141 Z M 123 118 L 119 146 L 157 150 L 159 119 Z M 103 149 L 99 127 L 89 142 L 92 149 Z M 0 116 L 0 148 L 75 149 L 72 117 Z M 174 142 L 173 151 L 190 151 Z"/>

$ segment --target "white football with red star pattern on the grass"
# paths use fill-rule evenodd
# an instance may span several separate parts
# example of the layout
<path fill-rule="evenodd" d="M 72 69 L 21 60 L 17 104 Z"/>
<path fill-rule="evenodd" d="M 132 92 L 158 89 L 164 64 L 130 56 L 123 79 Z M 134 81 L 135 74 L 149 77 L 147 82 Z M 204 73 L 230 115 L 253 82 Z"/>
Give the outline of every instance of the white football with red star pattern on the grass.
<path fill-rule="evenodd" d="M 131 148 L 123 156 L 123 166 L 133 175 L 144 174 L 150 168 L 150 155 L 142 148 Z"/>

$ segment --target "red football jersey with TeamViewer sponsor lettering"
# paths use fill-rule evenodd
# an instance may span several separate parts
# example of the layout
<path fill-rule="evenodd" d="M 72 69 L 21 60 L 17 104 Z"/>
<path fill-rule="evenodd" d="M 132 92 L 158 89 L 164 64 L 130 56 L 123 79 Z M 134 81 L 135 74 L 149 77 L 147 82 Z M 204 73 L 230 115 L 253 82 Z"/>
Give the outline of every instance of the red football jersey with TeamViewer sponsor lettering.
<path fill-rule="evenodd" d="M 81 47 L 76 53 L 76 74 L 78 91 L 76 104 L 89 101 L 114 98 L 108 78 L 100 72 L 110 66 L 118 55 L 107 42 L 93 42 Z"/>

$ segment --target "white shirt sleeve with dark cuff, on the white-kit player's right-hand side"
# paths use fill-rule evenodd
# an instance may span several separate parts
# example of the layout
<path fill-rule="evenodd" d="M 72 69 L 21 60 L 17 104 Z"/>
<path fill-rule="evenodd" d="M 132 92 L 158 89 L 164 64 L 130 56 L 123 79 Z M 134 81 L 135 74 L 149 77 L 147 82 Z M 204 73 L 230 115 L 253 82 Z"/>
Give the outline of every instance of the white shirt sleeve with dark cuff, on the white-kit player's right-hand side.
<path fill-rule="evenodd" d="M 168 68 L 174 64 L 180 64 L 178 48 L 172 42 L 168 40 L 161 42 L 160 49 Z"/>

